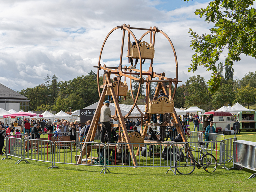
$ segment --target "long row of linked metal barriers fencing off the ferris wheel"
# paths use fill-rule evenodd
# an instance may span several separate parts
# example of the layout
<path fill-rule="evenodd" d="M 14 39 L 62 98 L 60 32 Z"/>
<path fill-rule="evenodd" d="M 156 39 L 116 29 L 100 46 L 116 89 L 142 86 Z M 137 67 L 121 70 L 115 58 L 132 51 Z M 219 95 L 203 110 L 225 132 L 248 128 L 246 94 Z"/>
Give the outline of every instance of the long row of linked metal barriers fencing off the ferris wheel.
<path fill-rule="evenodd" d="M 180 156 L 184 156 L 184 144 L 185 143 L 95 143 L 95 142 L 76 142 L 76 141 L 55 141 L 46 138 L 41 139 L 20 139 L 14 137 L 7 137 L 7 153 L 8 156 L 15 156 L 20 158 L 20 161 L 36 160 L 52 163 L 49 168 L 58 168 L 56 164 L 79 164 L 88 166 L 100 166 L 103 167 L 104 174 L 109 167 L 166 167 L 168 171 L 172 171 L 176 174 L 174 168 L 174 162 Z M 232 138 L 234 139 L 234 138 Z M 211 148 L 203 147 L 204 153 L 211 153 L 217 159 L 217 165 L 225 167 L 226 145 L 232 142 L 232 139 L 226 141 L 207 141 L 209 145 L 224 146 L 217 151 Z M 189 143 L 190 148 L 194 146 L 200 146 L 197 142 Z M 212 144 L 215 143 L 215 144 Z M 217 143 L 217 144 L 216 144 Z M 78 157 L 81 153 L 81 149 L 77 146 L 85 145 L 82 154 L 81 162 L 78 162 Z M 132 157 L 129 152 L 130 146 L 134 154 L 140 149 L 140 155 Z M 8 150 L 10 148 L 10 150 Z M 81 147 L 82 148 L 82 147 Z M 15 154 L 13 153 L 15 151 Z M 18 155 L 17 155 L 18 154 Z M 193 156 L 199 158 L 199 153 L 194 152 Z M 4 158 L 5 159 L 5 158 Z M 133 162 L 137 162 L 138 166 L 135 166 Z M 28 163 L 28 162 L 27 162 Z M 173 169 L 174 168 L 174 169 Z M 109 170 L 108 170 L 109 171 Z M 167 173 L 166 172 L 166 173 Z"/>

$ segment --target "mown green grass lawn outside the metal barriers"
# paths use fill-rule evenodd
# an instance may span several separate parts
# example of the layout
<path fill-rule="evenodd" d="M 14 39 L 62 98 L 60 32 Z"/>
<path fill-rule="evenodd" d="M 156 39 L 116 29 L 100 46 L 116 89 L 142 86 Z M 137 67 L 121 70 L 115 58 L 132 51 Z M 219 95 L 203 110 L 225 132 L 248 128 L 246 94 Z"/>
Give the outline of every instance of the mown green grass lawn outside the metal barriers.
<path fill-rule="evenodd" d="M 256 132 L 241 132 L 237 140 L 256 141 Z M 226 139 L 234 135 L 226 135 Z M 217 167 L 214 173 L 195 169 L 191 175 L 168 172 L 167 168 L 109 168 L 57 164 L 59 169 L 47 169 L 50 163 L 28 160 L 2 160 L 2 191 L 255 191 L 256 178 L 248 179 L 253 171 L 226 170 Z M 227 163 L 228 168 L 232 163 Z"/>

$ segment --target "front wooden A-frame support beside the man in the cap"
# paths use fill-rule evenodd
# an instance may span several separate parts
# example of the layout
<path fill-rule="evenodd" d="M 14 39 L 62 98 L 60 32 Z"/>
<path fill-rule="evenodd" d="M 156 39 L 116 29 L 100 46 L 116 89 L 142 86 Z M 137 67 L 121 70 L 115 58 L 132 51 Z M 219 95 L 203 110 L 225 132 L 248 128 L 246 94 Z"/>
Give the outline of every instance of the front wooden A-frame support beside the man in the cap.
<path fill-rule="evenodd" d="M 89 129 L 89 131 L 86 135 L 85 142 L 89 142 L 89 140 L 92 141 L 94 139 L 94 136 L 95 136 L 95 133 L 96 133 L 96 130 L 97 130 L 97 127 L 98 127 L 99 118 L 100 118 L 100 109 L 103 106 L 103 102 L 104 102 L 104 99 L 105 99 L 107 87 L 108 87 L 108 84 L 112 84 L 111 79 L 110 79 L 110 74 L 111 74 L 111 71 L 107 72 L 107 78 L 105 80 L 105 85 L 104 85 L 103 91 L 101 93 L 100 100 L 99 100 L 99 103 L 98 103 L 97 108 L 95 110 L 94 116 L 92 118 L 92 123 L 91 123 L 90 129 Z M 109 86 L 109 87 L 110 87 L 110 92 L 111 92 L 112 98 L 113 98 L 115 106 L 116 106 L 116 112 L 117 112 L 117 115 L 119 117 L 119 122 L 120 122 L 120 124 L 122 126 L 122 129 L 123 129 L 123 132 L 124 132 L 124 136 L 126 138 L 127 143 L 131 143 L 128 132 L 126 130 L 124 119 L 123 119 L 123 116 L 122 116 L 122 113 L 121 113 L 121 109 L 119 107 L 118 100 L 116 98 L 116 93 L 114 91 L 113 86 Z M 82 150 L 81 150 L 81 153 L 80 153 L 79 158 L 77 160 L 77 164 L 81 164 L 83 154 L 84 154 L 84 148 L 86 148 L 86 147 L 87 147 L 87 144 L 84 144 L 82 146 Z M 129 148 L 129 152 L 132 156 L 133 165 L 138 166 L 136 156 L 135 156 L 134 151 L 133 151 L 132 144 L 128 144 L 128 148 Z M 86 154 L 86 157 L 88 158 L 89 155 L 90 155 L 90 148 L 89 148 L 89 151 Z"/>

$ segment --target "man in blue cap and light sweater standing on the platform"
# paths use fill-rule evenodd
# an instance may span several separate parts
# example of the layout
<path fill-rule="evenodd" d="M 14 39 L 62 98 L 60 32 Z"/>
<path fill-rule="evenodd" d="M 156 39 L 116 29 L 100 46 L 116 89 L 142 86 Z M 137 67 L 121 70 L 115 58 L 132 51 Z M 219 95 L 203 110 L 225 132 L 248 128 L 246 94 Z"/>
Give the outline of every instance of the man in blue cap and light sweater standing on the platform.
<path fill-rule="evenodd" d="M 105 143 L 105 134 L 107 132 L 108 135 L 108 143 L 111 143 L 111 127 L 110 127 L 110 117 L 111 111 L 109 108 L 110 102 L 105 101 L 104 106 L 100 109 L 100 122 L 101 122 L 101 135 L 100 141 L 101 143 Z"/>

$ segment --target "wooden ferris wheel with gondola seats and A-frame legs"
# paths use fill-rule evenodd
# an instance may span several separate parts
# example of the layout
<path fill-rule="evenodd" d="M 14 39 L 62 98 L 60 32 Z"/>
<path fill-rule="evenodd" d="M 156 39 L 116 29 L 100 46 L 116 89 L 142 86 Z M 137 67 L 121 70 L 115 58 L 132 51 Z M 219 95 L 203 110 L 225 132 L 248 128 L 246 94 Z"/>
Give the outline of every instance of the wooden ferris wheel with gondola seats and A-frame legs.
<path fill-rule="evenodd" d="M 119 66 L 118 67 L 109 67 L 106 65 L 102 66 L 100 64 L 100 60 L 101 60 L 102 52 L 104 49 L 104 45 L 106 44 L 108 37 L 117 29 L 123 30 Z M 134 33 L 132 32 L 133 30 L 145 30 L 146 32 L 139 39 L 137 39 L 136 36 L 134 35 Z M 128 36 L 127 57 L 128 57 L 128 62 L 131 63 L 131 65 L 128 67 L 123 66 L 123 63 L 122 63 L 126 32 L 127 32 L 127 36 Z M 171 54 L 174 54 L 174 58 L 175 58 L 175 68 L 174 68 L 174 69 L 176 69 L 175 77 L 166 77 L 164 72 L 159 74 L 159 73 L 154 72 L 154 70 L 153 70 L 153 63 L 154 63 L 153 60 L 155 59 L 155 57 L 154 57 L 155 51 L 157 51 L 157 50 L 155 50 L 155 41 L 156 41 L 157 33 L 164 35 L 172 47 Z M 148 42 L 144 41 L 144 39 L 145 39 L 144 37 L 147 34 L 149 34 Z M 133 39 L 133 40 L 131 40 L 131 39 Z M 139 63 L 140 63 L 139 68 L 137 68 L 136 62 L 135 62 L 136 68 L 132 65 L 134 59 L 139 61 Z M 144 62 L 142 60 L 150 61 L 150 66 L 148 69 L 144 69 L 145 65 L 143 65 Z M 113 101 L 116 106 L 116 113 L 113 116 L 113 119 L 115 121 L 118 120 L 120 123 L 120 124 L 111 124 L 111 126 L 119 127 L 119 130 L 122 128 L 122 130 L 124 132 L 125 141 L 127 143 L 130 143 L 131 140 L 130 140 L 128 132 L 126 130 L 126 126 L 124 124 L 124 119 L 140 118 L 141 120 L 143 120 L 143 119 L 149 120 L 150 116 L 152 114 L 163 114 L 163 113 L 169 113 L 172 116 L 175 124 L 170 124 L 170 125 L 176 126 L 178 132 L 181 133 L 183 141 L 187 142 L 184 132 L 181 131 L 182 129 L 181 129 L 180 121 L 179 121 L 178 116 L 173 107 L 173 99 L 174 99 L 175 92 L 177 89 L 177 84 L 179 82 L 181 82 L 178 80 L 177 56 L 176 56 L 176 52 L 175 52 L 175 49 L 174 49 L 171 39 L 162 30 L 159 30 L 156 27 L 133 28 L 133 27 L 130 27 L 130 25 L 126 25 L 126 24 L 123 24 L 122 26 L 117 26 L 117 27 L 113 28 L 108 33 L 108 35 L 106 36 L 106 38 L 102 44 L 102 47 L 100 50 L 99 63 L 98 63 L 98 66 L 95 66 L 95 68 L 97 68 L 97 70 L 98 70 L 97 78 L 98 78 L 98 91 L 99 91 L 100 100 L 99 100 L 98 106 L 96 108 L 95 114 L 93 116 L 92 124 L 91 124 L 90 130 L 86 136 L 85 142 L 89 142 L 94 139 L 97 127 L 100 126 L 100 124 L 98 124 L 98 121 L 100 118 L 100 109 L 103 106 L 103 102 L 104 102 L 106 95 L 112 96 Z M 99 81 L 100 70 L 104 71 L 103 85 L 100 85 L 100 81 Z M 135 77 L 133 75 L 138 75 L 139 77 Z M 113 76 L 117 77 L 117 81 L 112 83 L 111 77 L 113 77 Z M 146 78 L 144 79 L 143 76 L 146 76 Z M 118 104 L 118 97 L 124 96 L 124 98 L 126 98 L 126 96 L 127 96 L 127 92 L 128 92 L 128 85 L 126 83 L 127 78 L 130 80 L 130 89 L 131 89 L 133 105 L 132 105 L 130 111 L 124 115 L 121 113 L 121 110 L 120 110 L 120 107 Z M 133 90 L 132 90 L 132 80 L 139 83 L 138 92 L 136 93 L 136 95 L 134 95 Z M 149 98 L 151 83 L 157 83 L 156 90 L 155 90 L 155 96 L 158 96 L 158 92 L 162 89 L 162 91 L 168 97 L 161 97 L 161 98 L 158 98 L 156 101 L 151 101 Z M 146 104 L 145 104 L 145 111 L 144 111 L 145 113 L 143 111 L 141 111 L 140 108 L 137 106 L 137 101 L 139 99 L 139 94 L 140 94 L 140 89 L 141 89 L 142 84 L 146 84 L 146 90 L 145 90 Z M 173 92 L 172 92 L 172 84 L 174 85 Z M 102 91 L 101 91 L 101 89 L 102 89 Z M 130 116 L 131 112 L 133 111 L 133 109 L 135 107 L 140 112 L 140 116 L 137 116 L 137 117 Z M 148 123 L 148 122 L 146 122 L 146 123 Z M 163 125 L 166 125 L 166 124 L 162 124 L 162 126 Z M 143 136 L 145 136 L 148 126 L 149 126 L 149 124 L 145 124 L 144 129 L 143 129 Z M 141 128 L 142 128 L 142 125 L 141 125 Z M 120 138 L 121 137 L 119 137 L 119 139 Z M 128 147 L 129 147 L 129 145 L 128 145 Z M 83 148 L 84 148 L 84 146 L 83 146 Z M 82 148 L 82 150 L 83 150 L 83 148 Z M 132 147 L 129 147 L 129 150 L 130 150 L 130 154 L 133 157 L 135 157 Z M 138 152 L 137 152 L 137 155 L 138 155 Z M 81 163 L 81 159 L 82 159 L 82 156 L 79 156 L 79 160 L 78 160 L 79 163 Z M 136 158 L 132 158 L 132 159 L 136 159 Z M 133 161 L 133 164 L 137 165 L 137 162 Z"/>

